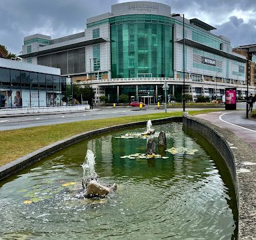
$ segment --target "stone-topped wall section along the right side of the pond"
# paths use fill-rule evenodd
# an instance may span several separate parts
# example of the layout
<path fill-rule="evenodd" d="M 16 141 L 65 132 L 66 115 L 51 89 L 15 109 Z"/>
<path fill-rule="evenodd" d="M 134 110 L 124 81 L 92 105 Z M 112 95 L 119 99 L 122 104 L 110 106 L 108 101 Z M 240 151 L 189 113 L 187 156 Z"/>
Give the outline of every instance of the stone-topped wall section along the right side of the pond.
<path fill-rule="evenodd" d="M 183 115 L 183 125 L 197 131 L 217 149 L 231 173 L 239 211 L 238 239 L 256 239 L 256 157 L 243 139 L 209 121 Z"/>

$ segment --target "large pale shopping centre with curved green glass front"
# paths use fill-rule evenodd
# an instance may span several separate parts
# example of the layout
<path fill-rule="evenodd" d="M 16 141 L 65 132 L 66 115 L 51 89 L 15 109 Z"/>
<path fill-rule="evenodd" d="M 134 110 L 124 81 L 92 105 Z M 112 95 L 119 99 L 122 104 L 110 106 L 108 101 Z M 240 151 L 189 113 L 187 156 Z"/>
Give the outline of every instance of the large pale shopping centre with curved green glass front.
<path fill-rule="evenodd" d="M 59 39 L 25 37 L 20 57 L 27 63 L 58 67 L 61 76 L 72 77 L 75 84 L 90 84 L 96 103 L 103 95 L 119 102 L 123 94 L 129 101 L 157 103 L 163 101 L 165 81 L 169 99 L 177 101 L 183 81 L 193 101 L 199 95 L 221 98 L 226 87 L 237 87 L 238 97 L 244 98 L 247 59 L 232 51 L 227 37 L 211 33 L 214 29 L 199 19 L 174 15 L 162 3 L 119 3 L 111 13 L 87 19 L 81 33 Z M 249 92 L 254 91 L 250 82 Z"/>

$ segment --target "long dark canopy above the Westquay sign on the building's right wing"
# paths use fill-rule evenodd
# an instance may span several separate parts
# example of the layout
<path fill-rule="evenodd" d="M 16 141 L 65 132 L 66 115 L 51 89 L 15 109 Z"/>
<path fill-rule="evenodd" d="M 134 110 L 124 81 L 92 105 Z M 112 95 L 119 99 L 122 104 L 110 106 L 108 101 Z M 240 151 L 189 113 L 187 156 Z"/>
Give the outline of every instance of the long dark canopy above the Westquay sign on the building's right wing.
<path fill-rule="evenodd" d="M 183 39 L 177 41 L 177 43 L 183 43 Z M 209 47 L 207 45 L 203 45 L 201 43 L 197 43 L 197 42 L 189 40 L 189 39 L 185 39 L 185 45 L 190 46 L 190 47 L 195 47 L 197 49 L 201 49 L 201 50 L 207 51 L 209 53 L 217 54 L 217 55 L 220 55 L 222 57 L 226 57 L 227 59 L 232 59 L 232 60 L 235 60 L 235 61 L 241 61 L 243 63 L 247 62 L 247 60 L 243 59 L 242 57 L 238 57 L 238 56 L 232 55 L 230 53 L 225 53 L 224 51 L 214 49 L 213 47 Z"/>

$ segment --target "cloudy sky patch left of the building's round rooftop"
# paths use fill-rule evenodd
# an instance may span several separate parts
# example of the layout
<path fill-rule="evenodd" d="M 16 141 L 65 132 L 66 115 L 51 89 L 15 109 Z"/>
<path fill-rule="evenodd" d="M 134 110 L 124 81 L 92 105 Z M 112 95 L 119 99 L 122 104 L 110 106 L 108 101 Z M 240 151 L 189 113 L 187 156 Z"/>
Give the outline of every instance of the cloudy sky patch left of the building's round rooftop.
<path fill-rule="evenodd" d="M 1 0 L 0 44 L 19 54 L 23 37 L 51 33 L 53 38 L 83 31 L 86 19 L 111 11 L 115 0 Z"/>

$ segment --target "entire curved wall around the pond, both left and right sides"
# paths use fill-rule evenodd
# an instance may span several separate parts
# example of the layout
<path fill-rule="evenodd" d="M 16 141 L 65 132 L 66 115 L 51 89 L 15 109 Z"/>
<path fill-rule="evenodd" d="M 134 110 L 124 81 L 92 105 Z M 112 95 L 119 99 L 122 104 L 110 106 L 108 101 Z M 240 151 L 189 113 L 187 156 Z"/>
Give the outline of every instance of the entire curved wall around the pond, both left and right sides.
<path fill-rule="evenodd" d="M 255 153 L 253 153 L 253 149 L 251 149 L 247 143 L 238 139 L 231 131 L 221 129 L 220 127 L 212 125 L 208 121 L 203 121 L 187 114 L 185 114 L 183 118 L 168 117 L 165 119 L 151 120 L 153 124 L 167 123 L 171 121 L 183 121 L 184 125 L 197 131 L 197 133 L 201 134 L 205 139 L 211 142 L 215 149 L 217 149 L 217 151 L 222 155 L 223 159 L 225 159 L 227 167 L 229 167 L 229 171 L 233 178 L 237 194 L 237 204 L 239 209 L 239 239 L 256 239 L 256 165 L 252 163 L 253 159 L 255 162 Z M 95 131 L 81 133 L 64 139 L 63 141 L 58 141 L 57 143 L 43 147 L 42 149 L 34 151 L 29 155 L 25 155 L 24 157 L 0 167 L 0 181 L 14 173 L 17 173 L 21 169 L 40 161 L 55 151 L 79 141 L 83 141 L 93 135 L 146 124 L 147 121 L 143 121 L 105 127 Z"/>

